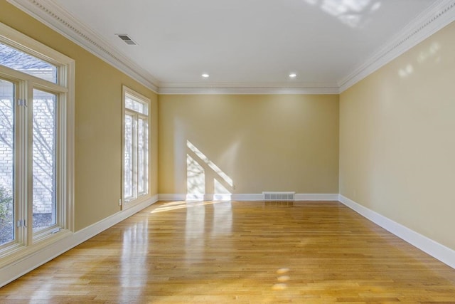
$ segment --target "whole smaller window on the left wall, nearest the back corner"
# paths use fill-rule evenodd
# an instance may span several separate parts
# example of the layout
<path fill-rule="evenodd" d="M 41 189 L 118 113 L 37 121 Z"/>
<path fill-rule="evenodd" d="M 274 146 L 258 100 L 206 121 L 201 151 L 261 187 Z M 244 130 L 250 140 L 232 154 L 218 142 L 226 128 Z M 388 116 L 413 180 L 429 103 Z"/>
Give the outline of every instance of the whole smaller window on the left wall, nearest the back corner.
<path fill-rule="evenodd" d="M 150 100 L 127 87 L 123 87 L 123 100 L 123 202 L 131 206 L 149 197 Z"/>

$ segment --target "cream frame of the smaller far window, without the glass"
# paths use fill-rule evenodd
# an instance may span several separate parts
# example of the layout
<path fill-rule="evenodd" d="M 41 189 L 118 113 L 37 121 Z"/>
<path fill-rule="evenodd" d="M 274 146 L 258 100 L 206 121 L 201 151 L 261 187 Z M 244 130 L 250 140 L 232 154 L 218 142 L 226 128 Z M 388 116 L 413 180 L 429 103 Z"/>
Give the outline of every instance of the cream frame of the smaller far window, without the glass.
<path fill-rule="evenodd" d="M 144 115 L 143 113 L 131 110 L 126 108 L 126 99 L 127 97 L 132 98 L 134 101 L 137 101 L 139 103 L 142 103 L 147 106 L 147 114 Z M 146 98 L 144 95 L 141 95 L 140 93 L 137 93 L 135 90 L 132 90 L 131 88 L 128 88 L 126 85 L 122 86 L 122 210 L 128 209 L 134 205 L 140 204 L 141 202 L 145 201 L 146 199 L 149 199 L 151 197 L 150 194 L 150 181 L 149 181 L 149 176 L 150 176 L 150 120 L 151 120 L 151 112 L 150 112 L 150 104 L 151 101 L 149 98 Z M 134 117 L 140 117 L 141 119 L 146 119 L 147 120 L 147 125 L 148 128 L 146 130 L 148 134 L 148 142 L 147 142 L 147 150 L 146 150 L 146 168 L 144 174 L 145 183 L 144 186 L 146 187 L 146 190 L 142 193 L 139 193 L 137 188 L 138 188 L 138 181 L 137 181 L 137 176 L 138 172 L 137 169 L 137 160 L 134 157 L 133 159 L 133 167 L 134 167 L 134 172 L 133 172 L 133 199 L 127 199 L 125 198 L 125 115 L 133 115 Z M 133 150 L 137 149 L 137 141 L 133 139 Z M 137 156 L 137 150 L 133 151 L 133 154 Z"/>

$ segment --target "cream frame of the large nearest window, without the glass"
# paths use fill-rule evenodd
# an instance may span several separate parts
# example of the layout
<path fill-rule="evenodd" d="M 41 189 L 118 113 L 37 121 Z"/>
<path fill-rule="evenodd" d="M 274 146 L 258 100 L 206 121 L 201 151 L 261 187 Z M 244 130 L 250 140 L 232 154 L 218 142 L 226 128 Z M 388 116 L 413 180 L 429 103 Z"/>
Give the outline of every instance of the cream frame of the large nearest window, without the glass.
<path fill-rule="evenodd" d="M 43 43 L 0 23 L 0 42 L 28 53 L 58 67 L 57 83 L 0 65 L 0 77 L 16 85 L 15 224 L 24 220 L 26 226 L 16 226 L 16 238 L 0 246 L 0 267 L 39 251 L 51 243 L 73 234 L 74 231 L 74 88 L 75 61 Z M 18 105 L 26 100 L 33 105 L 33 89 L 55 94 L 56 111 L 56 223 L 48 229 L 33 233 L 31 180 L 31 106 Z M 18 142 L 18 140 L 20 142 Z M 26 177 L 16 179 L 16 177 Z"/>

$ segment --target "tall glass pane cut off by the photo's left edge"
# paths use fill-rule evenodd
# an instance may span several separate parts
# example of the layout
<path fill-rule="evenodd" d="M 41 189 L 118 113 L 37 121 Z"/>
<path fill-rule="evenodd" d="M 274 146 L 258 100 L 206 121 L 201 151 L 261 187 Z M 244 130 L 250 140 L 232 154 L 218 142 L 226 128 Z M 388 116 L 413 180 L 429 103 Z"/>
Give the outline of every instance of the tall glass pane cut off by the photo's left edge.
<path fill-rule="evenodd" d="M 14 241 L 14 83 L 0 79 L 0 245 Z"/>

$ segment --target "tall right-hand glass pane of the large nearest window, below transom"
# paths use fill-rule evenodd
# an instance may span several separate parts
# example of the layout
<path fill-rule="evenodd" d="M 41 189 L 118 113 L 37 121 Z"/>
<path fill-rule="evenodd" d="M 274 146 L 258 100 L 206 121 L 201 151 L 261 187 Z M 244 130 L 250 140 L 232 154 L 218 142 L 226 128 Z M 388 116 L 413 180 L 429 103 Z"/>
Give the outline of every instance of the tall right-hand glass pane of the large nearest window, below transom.
<path fill-rule="evenodd" d="M 33 231 L 56 223 L 55 94 L 33 90 Z"/>

